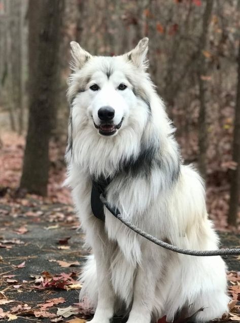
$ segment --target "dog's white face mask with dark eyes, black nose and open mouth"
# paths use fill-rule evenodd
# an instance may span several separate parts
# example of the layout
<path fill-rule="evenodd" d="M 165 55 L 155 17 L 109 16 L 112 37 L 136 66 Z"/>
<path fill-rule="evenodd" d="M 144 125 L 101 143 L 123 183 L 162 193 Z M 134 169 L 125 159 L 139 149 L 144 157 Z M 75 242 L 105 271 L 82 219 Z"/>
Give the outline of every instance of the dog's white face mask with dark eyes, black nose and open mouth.
<path fill-rule="evenodd" d="M 81 104 L 86 103 L 87 115 L 96 131 L 102 136 L 113 136 L 120 130 L 136 99 L 126 75 L 101 64 L 101 68 L 91 74 L 79 100 Z"/>

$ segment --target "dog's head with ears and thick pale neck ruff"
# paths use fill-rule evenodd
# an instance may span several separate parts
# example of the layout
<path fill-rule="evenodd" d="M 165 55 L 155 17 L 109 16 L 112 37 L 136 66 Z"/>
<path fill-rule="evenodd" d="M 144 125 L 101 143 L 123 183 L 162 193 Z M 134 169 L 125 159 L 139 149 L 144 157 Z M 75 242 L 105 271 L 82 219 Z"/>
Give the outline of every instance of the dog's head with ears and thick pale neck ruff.
<path fill-rule="evenodd" d="M 92 56 L 76 42 L 71 47 L 70 167 L 107 178 L 122 170 L 140 174 L 141 167 L 151 168 L 154 158 L 156 165 L 163 165 L 163 156 L 169 155 L 166 168 L 174 164 L 177 146 L 169 145 L 173 127 L 146 72 L 148 38 L 114 57 Z"/>

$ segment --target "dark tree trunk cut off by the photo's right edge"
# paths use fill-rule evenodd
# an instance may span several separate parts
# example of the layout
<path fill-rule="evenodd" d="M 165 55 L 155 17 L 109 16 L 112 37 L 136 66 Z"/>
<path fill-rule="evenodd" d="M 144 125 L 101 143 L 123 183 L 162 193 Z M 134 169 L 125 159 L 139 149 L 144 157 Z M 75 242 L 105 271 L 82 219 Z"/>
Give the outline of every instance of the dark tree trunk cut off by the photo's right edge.
<path fill-rule="evenodd" d="M 235 170 L 231 170 L 231 188 L 229 201 L 228 223 L 236 225 L 237 210 L 240 192 L 240 42 L 238 49 L 238 81 L 236 90 L 235 121 L 233 134 L 232 159 L 237 164 Z"/>

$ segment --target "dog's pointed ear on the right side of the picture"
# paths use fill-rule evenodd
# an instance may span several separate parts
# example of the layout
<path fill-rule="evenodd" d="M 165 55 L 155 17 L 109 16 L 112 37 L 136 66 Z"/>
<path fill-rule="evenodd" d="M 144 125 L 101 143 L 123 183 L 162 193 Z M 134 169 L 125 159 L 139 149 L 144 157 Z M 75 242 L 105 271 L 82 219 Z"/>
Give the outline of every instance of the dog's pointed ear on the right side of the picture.
<path fill-rule="evenodd" d="M 134 49 L 132 49 L 127 54 L 127 58 L 131 60 L 136 67 L 145 70 L 148 67 L 148 41 L 147 37 L 141 39 L 141 41 L 136 45 Z"/>

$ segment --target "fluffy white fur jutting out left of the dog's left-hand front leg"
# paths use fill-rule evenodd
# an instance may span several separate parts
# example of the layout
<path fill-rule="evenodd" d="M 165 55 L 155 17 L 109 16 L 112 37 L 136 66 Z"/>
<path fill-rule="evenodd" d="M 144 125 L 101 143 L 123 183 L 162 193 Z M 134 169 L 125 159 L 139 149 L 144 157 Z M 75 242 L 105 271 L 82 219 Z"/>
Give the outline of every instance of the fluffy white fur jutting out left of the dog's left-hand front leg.
<path fill-rule="evenodd" d="M 96 274 L 96 262 L 94 255 L 89 255 L 86 257 L 87 262 L 83 266 L 82 274 L 79 277 L 81 283 L 83 283 L 83 287 L 80 292 L 80 302 L 87 303 L 88 308 L 96 308 L 97 305 L 97 274 Z"/>

